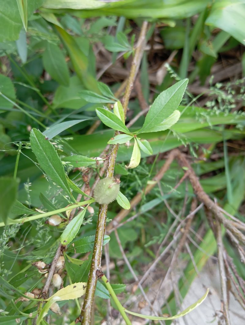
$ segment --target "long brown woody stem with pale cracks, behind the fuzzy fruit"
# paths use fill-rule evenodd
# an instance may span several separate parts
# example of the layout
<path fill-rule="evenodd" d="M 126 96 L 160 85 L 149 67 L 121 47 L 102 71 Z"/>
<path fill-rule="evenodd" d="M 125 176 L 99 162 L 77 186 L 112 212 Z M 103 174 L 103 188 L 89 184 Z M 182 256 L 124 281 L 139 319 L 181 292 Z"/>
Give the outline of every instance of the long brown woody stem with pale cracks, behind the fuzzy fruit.
<path fill-rule="evenodd" d="M 146 31 L 147 31 L 147 22 L 144 21 L 139 35 L 139 40 L 135 49 L 135 55 L 131 65 L 128 83 L 125 89 L 125 95 L 122 100 L 125 116 L 128 109 L 129 97 L 131 94 L 133 83 L 136 74 L 138 72 L 140 61 L 143 55 Z M 113 177 L 114 175 L 114 167 L 115 167 L 117 150 L 118 150 L 118 144 L 113 145 L 111 148 L 105 177 Z M 84 325 L 91 324 L 94 294 L 95 294 L 95 288 L 96 288 L 96 283 L 98 278 L 96 275 L 96 271 L 101 269 L 102 244 L 103 244 L 103 238 L 105 234 L 107 207 L 108 207 L 107 204 L 102 204 L 99 207 L 98 221 L 96 225 L 95 241 L 94 241 L 94 248 L 93 248 L 93 255 L 92 255 L 92 263 L 88 275 L 88 284 L 85 292 L 84 302 L 79 317 L 81 324 Z"/>

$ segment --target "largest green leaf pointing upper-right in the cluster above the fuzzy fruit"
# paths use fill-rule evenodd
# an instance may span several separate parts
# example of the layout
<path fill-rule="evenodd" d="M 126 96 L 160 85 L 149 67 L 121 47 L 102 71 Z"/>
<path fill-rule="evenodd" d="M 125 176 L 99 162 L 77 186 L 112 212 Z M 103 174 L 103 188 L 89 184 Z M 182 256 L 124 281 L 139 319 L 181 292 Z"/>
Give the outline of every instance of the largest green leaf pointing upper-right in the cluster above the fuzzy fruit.
<path fill-rule="evenodd" d="M 188 79 L 181 80 L 157 96 L 145 117 L 142 129 L 138 133 L 152 132 L 150 130 L 153 127 L 164 122 L 177 109 L 187 83 Z"/>

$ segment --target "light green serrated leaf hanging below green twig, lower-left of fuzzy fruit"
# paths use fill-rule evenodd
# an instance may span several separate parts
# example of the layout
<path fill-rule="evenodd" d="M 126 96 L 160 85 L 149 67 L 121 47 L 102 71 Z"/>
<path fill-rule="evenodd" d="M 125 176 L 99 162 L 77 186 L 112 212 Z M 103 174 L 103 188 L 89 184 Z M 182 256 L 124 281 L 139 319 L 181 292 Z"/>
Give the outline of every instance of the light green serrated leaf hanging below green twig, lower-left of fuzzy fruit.
<path fill-rule="evenodd" d="M 76 234 L 78 233 L 78 231 L 82 225 L 86 210 L 87 210 L 87 207 L 85 209 L 83 209 L 82 212 L 77 214 L 75 216 L 75 218 L 72 219 L 72 221 L 65 227 L 65 230 L 62 232 L 62 235 L 60 238 L 62 245 L 69 244 L 75 238 Z"/>

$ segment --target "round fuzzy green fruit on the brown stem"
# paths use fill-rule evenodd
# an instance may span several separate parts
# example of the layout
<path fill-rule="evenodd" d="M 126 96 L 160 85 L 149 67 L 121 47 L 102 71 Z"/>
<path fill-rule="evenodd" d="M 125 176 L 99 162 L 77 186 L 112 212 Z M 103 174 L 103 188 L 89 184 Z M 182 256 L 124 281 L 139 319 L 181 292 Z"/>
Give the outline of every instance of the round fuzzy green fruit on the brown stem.
<path fill-rule="evenodd" d="M 94 188 L 94 199 L 99 204 L 109 204 L 116 200 L 119 188 L 113 177 L 102 178 Z"/>

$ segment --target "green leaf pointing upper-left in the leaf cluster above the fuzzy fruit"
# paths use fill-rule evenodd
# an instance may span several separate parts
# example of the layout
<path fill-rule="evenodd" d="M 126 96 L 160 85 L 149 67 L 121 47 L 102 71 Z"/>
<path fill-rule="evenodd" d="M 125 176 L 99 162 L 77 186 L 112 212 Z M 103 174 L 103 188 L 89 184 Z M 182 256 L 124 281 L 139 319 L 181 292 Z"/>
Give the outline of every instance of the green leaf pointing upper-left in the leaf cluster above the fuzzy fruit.
<path fill-rule="evenodd" d="M 111 111 L 104 108 L 97 108 L 96 113 L 99 119 L 106 126 L 111 127 L 114 130 L 130 134 L 129 129 L 125 126 L 125 124 Z"/>

